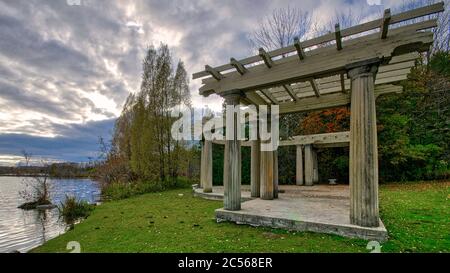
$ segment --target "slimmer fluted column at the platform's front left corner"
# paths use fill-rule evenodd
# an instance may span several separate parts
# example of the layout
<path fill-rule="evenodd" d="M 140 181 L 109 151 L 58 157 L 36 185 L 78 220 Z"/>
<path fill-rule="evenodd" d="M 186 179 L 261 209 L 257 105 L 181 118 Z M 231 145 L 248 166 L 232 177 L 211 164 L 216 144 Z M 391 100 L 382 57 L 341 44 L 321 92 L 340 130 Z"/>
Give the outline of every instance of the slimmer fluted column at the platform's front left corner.
<path fill-rule="evenodd" d="M 222 96 L 225 98 L 227 106 L 236 106 L 239 105 L 242 92 L 232 90 Z M 236 211 L 241 209 L 241 141 L 238 140 L 237 135 L 239 115 L 236 112 L 226 114 L 223 203 L 226 210 Z"/>

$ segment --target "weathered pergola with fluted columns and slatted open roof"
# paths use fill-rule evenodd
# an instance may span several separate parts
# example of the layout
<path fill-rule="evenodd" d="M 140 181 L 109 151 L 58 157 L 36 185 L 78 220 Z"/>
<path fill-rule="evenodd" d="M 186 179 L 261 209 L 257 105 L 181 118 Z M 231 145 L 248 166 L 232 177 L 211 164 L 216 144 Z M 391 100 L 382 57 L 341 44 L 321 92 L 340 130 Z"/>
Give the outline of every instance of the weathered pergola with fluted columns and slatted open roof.
<path fill-rule="evenodd" d="M 279 105 L 280 114 L 326 109 L 350 104 L 350 132 L 298 136 L 280 145 L 296 145 L 297 184 L 314 180 L 315 144 L 350 146 L 350 223 L 361 227 L 380 225 L 378 208 L 378 151 L 376 97 L 401 92 L 395 85 L 406 80 L 415 60 L 433 43 L 436 19 L 444 4 L 391 15 L 347 29 L 336 24 L 334 32 L 299 41 L 273 51 L 211 67 L 193 75 L 202 79 L 200 94 L 217 94 L 228 105 Z M 235 118 L 235 123 L 237 119 Z M 236 124 L 235 124 L 236 125 Z M 319 142 L 319 143 L 317 143 Z M 241 141 L 225 140 L 224 210 L 241 209 Z M 212 146 L 206 141 L 202 154 L 202 186 L 212 189 Z M 277 152 L 251 146 L 252 196 L 277 198 Z M 305 173 L 300 170 L 305 151 Z M 274 164 L 275 162 L 275 164 Z"/>

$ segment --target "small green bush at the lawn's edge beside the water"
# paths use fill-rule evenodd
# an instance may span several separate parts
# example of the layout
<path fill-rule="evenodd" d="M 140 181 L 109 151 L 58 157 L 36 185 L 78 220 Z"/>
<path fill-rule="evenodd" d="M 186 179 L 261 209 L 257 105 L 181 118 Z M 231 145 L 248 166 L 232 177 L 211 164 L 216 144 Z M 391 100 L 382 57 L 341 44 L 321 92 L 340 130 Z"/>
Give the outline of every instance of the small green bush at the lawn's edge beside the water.
<path fill-rule="evenodd" d="M 66 195 L 66 200 L 61 203 L 58 210 L 64 220 L 70 223 L 78 219 L 87 218 L 94 210 L 94 205 L 89 204 L 87 201 L 78 200 L 74 196 Z"/>

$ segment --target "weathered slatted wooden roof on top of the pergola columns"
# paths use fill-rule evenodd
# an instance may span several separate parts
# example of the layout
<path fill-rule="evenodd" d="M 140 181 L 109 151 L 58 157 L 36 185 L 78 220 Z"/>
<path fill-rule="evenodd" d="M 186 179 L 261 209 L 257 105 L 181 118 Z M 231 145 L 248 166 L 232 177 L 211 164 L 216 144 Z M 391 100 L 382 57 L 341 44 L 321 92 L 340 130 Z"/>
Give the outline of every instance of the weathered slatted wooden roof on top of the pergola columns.
<path fill-rule="evenodd" d="M 241 90 L 247 104 L 277 104 L 281 113 L 346 105 L 350 102 L 348 66 L 379 59 L 375 95 L 401 92 L 393 85 L 407 78 L 419 53 L 433 42 L 437 19 L 422 19 L 444 10 L 444 3 L 391 15 L 217 67 L 205 66 L 200 94 Z M 420 22 L 417 22 L 420 21 Z"/>

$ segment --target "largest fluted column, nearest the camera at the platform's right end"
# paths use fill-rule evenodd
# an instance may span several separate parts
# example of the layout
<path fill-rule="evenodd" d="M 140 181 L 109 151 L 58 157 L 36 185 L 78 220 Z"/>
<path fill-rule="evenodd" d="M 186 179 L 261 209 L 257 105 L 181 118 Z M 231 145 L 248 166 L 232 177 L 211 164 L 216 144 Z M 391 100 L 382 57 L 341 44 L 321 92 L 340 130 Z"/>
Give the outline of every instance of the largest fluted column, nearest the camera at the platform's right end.
<path fill-rule="evenodd" d="M 351 79 L 350 222 L 378 227 L 378 151 L 374 82 L 378 59 L 347 66 Z"/>

